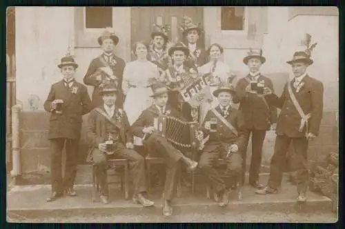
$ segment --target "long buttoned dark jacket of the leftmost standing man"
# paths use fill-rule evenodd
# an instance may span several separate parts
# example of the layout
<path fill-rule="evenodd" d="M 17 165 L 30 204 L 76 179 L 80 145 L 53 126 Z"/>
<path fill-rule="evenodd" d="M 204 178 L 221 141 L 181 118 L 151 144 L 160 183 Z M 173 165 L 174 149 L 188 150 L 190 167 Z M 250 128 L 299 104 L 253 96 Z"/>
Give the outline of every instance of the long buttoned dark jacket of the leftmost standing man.
<path fill-rule="evenodd" d="M 77 92 L 72 93 L 72 88 Z M 63 99 L 62 114 L 51 111 L 50 106 L 55 99 Z M 52 84 L 44 109 L 51 112 L 48 139 L 79 139 L 81 117 L 92 110 L 92 103 L 86 86 L 75 81 L 70 90 L 63 81 Z"/>

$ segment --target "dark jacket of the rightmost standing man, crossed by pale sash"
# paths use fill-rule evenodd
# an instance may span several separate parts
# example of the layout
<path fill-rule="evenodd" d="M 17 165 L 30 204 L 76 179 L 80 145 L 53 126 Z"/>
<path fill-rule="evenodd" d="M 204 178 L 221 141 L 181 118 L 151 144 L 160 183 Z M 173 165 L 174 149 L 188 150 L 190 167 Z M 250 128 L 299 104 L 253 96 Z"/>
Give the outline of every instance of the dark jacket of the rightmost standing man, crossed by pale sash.
<path fill-rule="evenodd" d="M 302 82 L 304 82 L 304 86 L 299 92 L 296 92 L 293 87 L 294 80 L 288 83 L 290 83 L 291 89 L 304 114 L 308 115 L 311 113 L 311 118 L 308 120 L 309 132 L 319 135 L 319 126 L 324 106 L 324 85 L 321 81 L 308 75 L 304 77 Z M 304 126 L 302 132 L 299 132 L 301 117 L 293 105 L 293 101 L 290 99 L 287 83 L 280 97 L 277 97 L 276 94 L 270 94 L 266 96 L 266 100 L 273 106 L 282 109 L 277 121 L 277 135 L 287 135 L 288 137 L 304 137 L 306 135 L 306 126 Z"/>

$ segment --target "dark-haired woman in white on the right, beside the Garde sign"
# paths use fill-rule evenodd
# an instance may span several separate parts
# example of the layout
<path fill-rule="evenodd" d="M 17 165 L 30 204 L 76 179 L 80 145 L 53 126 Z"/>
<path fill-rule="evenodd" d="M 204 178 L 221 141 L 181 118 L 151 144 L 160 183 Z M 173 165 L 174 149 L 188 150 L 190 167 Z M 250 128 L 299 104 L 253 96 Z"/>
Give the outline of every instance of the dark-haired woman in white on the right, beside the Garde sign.
<path fill-rule="evenodd" d="M 220 83 L 230 83 L 235 78 L 234 74 L 231 74 L 230 66 L 227 63 L 219 60 L 224 49 L 218 43 L 213 43 L 208 48 L 206 54 L 208 54 L 210 61 L 201 66 L 198 71 L 203 74 L 211 74 L 210 94 L 213 96 L 213 91 L 217 89 Z M 206 101 L 201 104 L 200 109 L 200 123 L 204 121 L 206 113 L 211 108 L 217 106 L 217 98 L 213 96 L 213 101 Z"/>

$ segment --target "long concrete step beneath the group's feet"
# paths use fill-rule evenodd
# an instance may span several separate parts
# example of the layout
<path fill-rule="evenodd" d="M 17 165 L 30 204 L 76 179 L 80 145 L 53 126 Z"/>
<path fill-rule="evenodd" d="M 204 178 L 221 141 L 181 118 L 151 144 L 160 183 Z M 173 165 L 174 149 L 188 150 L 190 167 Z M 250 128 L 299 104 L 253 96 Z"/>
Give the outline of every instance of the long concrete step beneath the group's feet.
<path fill-rule="evenodd" d="M 262 178 L 261 178 L 262 179 Z M 37 217 L 70 217 L 81 214 L 111 214 L 111 215 L 161 215 L 161 187 L 153 189 L 149 198 L 155 201 L 152 208 L 142 208 L 124 199 L 119 187 L 110 190 L 111 199 L 108 205 L 96 202 L 92 203 L 92 186 L 78 185 L 77 197 L 63 197 L 55 202 L 46 202 L 50 195 L 50 186 L 15 186 L 8 192 L 7 211 L 8 215 L 19 215 L 26 218 Z M 220 208 L 212 199 L 206 199 L 205 187 L 197 187 L 192 195 L 188 188 L 184 188 L 182 196 L 173 201 L 174 215 L 184 215 L 188 212 L 331 212 L 331 199 L 315 192 L 307 193 L 308 201 L 302 205 L 295 202 L 296 187 L 284 179 L 282 188 L 276 195 L 256 195 L 255 189 L 244 186 L 243 200 L 237 200 L 237 193 L 230 195 L 231 201 L 226 208 Z M 213 195 L 211 195 L 213 196 Z"/>

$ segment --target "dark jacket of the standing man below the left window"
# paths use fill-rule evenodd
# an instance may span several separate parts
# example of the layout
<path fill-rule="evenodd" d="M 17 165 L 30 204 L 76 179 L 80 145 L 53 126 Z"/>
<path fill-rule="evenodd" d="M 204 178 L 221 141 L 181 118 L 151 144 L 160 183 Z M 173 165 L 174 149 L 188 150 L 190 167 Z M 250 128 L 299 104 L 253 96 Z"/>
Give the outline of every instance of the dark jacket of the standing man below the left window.
<path fill-rule="evenodd" d="M 83 78 L 83 82 L 88 86 L 94 86 L 94 90 L 92 92 L 92 103 L 94 107 L 101 106 L 103 104 L 102 97 L 99 95 L 99 84 L 100 82 L 96 80 L 97 75 L 101 74 L 102 77 L 105 77 L 105 74 L 103 72 L 99 71 L 99 68 L 106 67 L 103 65 L 101 60 L 99 58 L 102 58 L 104 60 L 103 54 L 99 57 L 96 57 L 95 59 L 92 59 L 90 66 L 88 67 L 88 70 Z M 104 60 L 105 61 L 105 60 Z M 115 77 L 119 79 L 117 84 L 117 90 L 119 90 L 118 98 L 117 98 L 117 106 L 122 106 L 124 103 L 124 94 L 121 91 L 122 86 L 122 79 L 124 74 L 124 68 L 126 66 L 126 63 L 123 59 L 120 57 L 115 56 L 115 61 L 117 62 L 115 66 L 112 66 L 112 72 L 114 72 Z"/>

